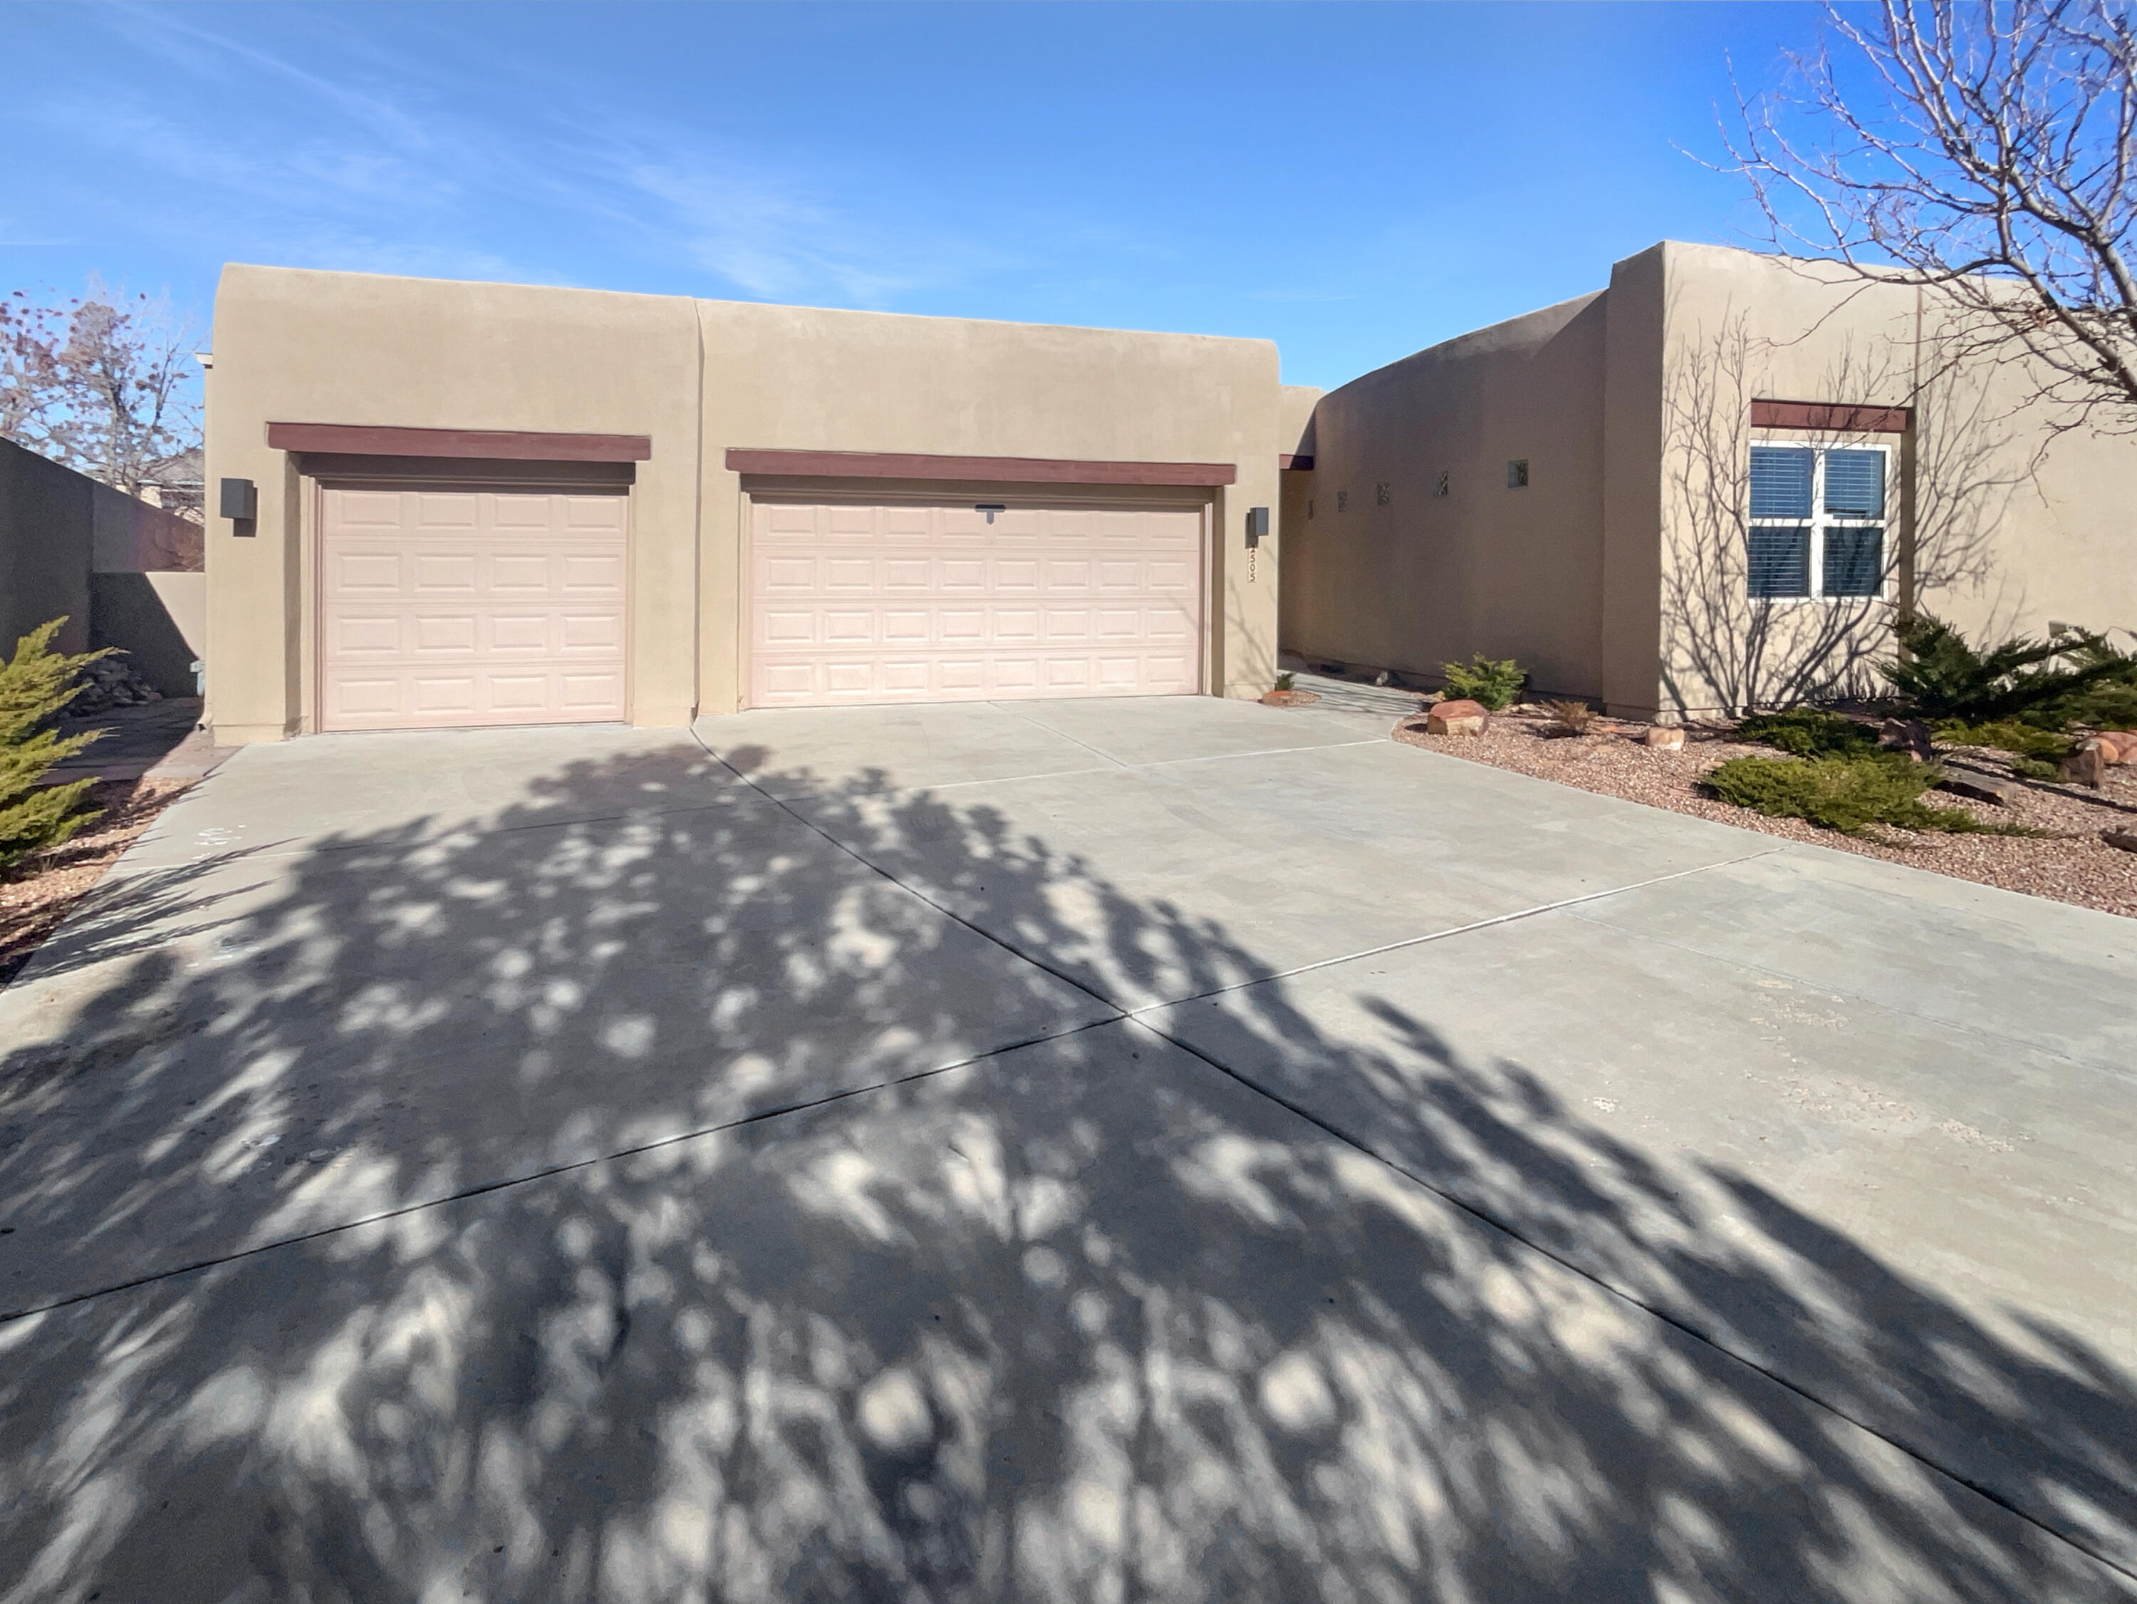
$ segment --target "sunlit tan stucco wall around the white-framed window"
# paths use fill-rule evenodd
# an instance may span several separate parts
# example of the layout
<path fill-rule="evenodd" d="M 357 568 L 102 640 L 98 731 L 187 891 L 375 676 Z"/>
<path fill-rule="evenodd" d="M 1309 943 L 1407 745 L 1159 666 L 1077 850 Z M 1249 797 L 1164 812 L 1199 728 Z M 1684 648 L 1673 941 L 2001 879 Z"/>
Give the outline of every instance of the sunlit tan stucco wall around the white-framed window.
<path fill-rule="evenodd" d="M 1972 639 L 2137 627 L 2137 441 L 2056 434 L 2022 364 L 1949 361 L 1934 291 L 1718 246 L 1665 252 L 1658 704 L 1705 712 L 1874 691 L 1904 597 Z M 1613 291 L 1616 295 L 1616 291 Z M 1913 406 L 1908 434 L 1754 430 L 1750 400 Z M 1754 605 L 1754 438 L 1900 453 L 1887 599 Z"/>

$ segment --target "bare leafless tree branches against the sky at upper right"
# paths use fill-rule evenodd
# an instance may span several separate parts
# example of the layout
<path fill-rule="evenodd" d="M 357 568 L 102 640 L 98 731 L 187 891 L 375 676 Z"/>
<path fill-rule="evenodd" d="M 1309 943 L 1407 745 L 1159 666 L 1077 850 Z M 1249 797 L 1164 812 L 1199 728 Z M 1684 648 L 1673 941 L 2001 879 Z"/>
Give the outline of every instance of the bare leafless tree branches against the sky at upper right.
<path fill-rule="evenodd" d="M 2137 28 L 2116 0 L 1885 0 L 1846 49 L 1740 96 L 1731 139 L 1787 255 L 1900 274 L 1951 355 L 2030 359 L 2064 426 L 2137 430 Z"/>

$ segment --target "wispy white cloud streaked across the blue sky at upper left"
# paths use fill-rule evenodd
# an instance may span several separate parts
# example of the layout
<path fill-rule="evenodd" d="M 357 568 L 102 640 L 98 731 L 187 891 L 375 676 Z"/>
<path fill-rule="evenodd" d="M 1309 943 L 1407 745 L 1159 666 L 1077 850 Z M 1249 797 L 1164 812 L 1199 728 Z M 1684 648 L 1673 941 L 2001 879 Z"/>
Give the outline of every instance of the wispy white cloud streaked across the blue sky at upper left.
<path fill-rule="evenodd" d="M 34 115 L 51 137 L 165 175 L 171 203 L 132 222 L 216 255 L 556 282 L 579 261 L 568 242 L 598 235 L 665 282 L 677 269 L 686 282 L 701 276 L 703 293 L 870 308 L 1028 265 L 853 171 L 618 118 L 575 103 L 562 77 L 515 96 L 511 124 L 485 118 L 464 109 L 449 64 L 395 53 L 346 13 L 241 13 L 274 15 L 284 49 L 261 28 L 239 36 L 156 6 L 103 15 L 115 38 L 184 73 L 186 111 L 100 83 L 47 96 Z M 303 133 L 261 137 L 263 118 L 201 118 L 203 96 L 301 103 Z M 528 103 L 545 111 L 528 118 Z"/>

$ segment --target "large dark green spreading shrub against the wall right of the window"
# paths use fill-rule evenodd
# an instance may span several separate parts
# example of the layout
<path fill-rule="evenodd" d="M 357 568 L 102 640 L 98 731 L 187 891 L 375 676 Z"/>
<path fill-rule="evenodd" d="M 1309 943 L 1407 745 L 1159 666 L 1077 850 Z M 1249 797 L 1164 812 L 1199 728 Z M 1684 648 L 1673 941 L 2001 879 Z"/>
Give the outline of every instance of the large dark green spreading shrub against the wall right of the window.
<path fill-rule="evenodd" d="M 1881 672 L 1915 716 L 1932 723 L 2022 719 L 2062 729 L 2096 712 L 2088 704 L 2137 704 L 2137 657 L 2084 629 L 1977 650 L 1951 624 L 1915 614 L 1896 635 L 1902 657 Z"/>

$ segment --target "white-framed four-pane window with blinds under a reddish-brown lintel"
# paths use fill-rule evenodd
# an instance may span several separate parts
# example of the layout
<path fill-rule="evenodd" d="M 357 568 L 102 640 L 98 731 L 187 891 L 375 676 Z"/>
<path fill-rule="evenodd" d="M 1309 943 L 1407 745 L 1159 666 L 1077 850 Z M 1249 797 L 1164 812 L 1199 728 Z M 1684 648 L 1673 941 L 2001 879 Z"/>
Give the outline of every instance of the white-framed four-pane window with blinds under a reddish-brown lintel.
<path fill-rule="evenodd" d="M 1746 526 L 1752 599 L 1885 595 L 1891 447 L 1750 449 Z"/>

